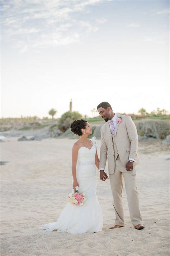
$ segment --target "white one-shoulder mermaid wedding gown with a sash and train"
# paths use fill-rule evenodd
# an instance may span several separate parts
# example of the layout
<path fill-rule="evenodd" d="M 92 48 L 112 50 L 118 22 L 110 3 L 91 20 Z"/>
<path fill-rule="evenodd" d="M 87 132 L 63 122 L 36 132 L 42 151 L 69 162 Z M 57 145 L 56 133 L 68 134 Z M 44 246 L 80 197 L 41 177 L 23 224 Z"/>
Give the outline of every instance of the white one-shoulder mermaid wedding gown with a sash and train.
<path fill-rule="evenodd" d="M 103 214 L 96 196 L 95 153 L 95 143 L 91 149 L 81 147 L 78 151 L 76 176 L 79 192 L 86 196 L 84 205 L 67 203 L 57 222 L 45 224 L 40 229 L 45 229 L 46 232 L 57 230 L 57 232 L 69 234 L 93 233 L 102 230 Z M 73 193 L 73 190 L 71 192 Z"/>

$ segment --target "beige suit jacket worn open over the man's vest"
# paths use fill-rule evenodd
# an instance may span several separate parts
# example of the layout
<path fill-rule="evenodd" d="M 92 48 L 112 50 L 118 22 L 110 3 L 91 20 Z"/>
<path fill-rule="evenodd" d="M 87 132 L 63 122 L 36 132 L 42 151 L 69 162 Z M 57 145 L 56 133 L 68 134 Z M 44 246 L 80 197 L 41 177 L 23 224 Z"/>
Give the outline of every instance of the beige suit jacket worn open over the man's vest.
<path fill-rule="evenodd" d="M 138 135 L 137 130 L 132 118 L 117 114 L 117 117 L 122 117 L 121 123 L 116 123 L 115 126 L 115 144 L 118 149 L 118 154 L 122 163 L 122 171 L 126 171 L 126 165 L 129 158 L 133 158 L 136 162 L 133 166 L 140 163 L 137 148 L 138 148 Z M 109 122 L 101 127 L 101 147 L 100 147 L 100 168 L 105 169 L 106 161 L 108 159 L 109 174 L 114 173 L 115 159 L 113 140 L 110 131 Z"/>

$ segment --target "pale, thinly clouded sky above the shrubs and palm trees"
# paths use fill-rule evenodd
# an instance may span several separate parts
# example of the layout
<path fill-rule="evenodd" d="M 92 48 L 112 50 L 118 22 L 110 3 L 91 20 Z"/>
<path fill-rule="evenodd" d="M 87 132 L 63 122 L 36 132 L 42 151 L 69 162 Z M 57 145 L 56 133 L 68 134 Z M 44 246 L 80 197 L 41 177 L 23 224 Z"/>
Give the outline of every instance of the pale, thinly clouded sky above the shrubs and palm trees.
<path fill-rule="evenodd" d="M 1 0 L 1 117 L 169 105 L 169 1 Z"/>

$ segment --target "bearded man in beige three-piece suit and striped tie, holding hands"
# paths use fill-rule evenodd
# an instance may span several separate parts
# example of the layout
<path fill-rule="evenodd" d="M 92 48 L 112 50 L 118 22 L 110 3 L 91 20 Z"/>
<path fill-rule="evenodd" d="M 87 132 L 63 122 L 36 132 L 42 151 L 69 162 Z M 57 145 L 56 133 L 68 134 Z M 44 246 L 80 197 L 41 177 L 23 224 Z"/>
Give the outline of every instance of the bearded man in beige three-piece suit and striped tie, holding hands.
<path fill-rule="evenodd" d="M 100 179 L 106 180 L 108 176 L 105 173 L 105 165 L 108 159 L 109 179 L 116 216 L 115 225 L 110 229 L 121 228 L 124 225 L 122 205 L 123 178 L 131 222 L 134 228 L 143 229 L 136 187 L 135 166 L 140 163 L 137 154 L 138 136 L 136 126 L 130 116 L 114 113 L 108 102 L 101 102 L 97 109 L 106 122 L 101 127 L 99 170 Z"/>

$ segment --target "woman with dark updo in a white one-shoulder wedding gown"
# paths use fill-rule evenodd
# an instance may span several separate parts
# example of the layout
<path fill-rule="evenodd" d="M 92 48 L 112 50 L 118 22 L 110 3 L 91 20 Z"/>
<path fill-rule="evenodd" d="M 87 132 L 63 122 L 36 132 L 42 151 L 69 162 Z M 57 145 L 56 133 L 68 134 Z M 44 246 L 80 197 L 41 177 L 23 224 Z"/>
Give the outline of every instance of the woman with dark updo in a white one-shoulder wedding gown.
<path fill-rule="evenodd" d="M 72 147 L 72 193 L 78 190 L 84 193 L 86 201 L 83 206 L 67 203 L 57 222 L 45 224 L 41 229 L 51 232 L 67 232 L 82 234 L 100 232 L 103 227 L 103 215 L 96 196 L 96 167 L 99 169 L 99 158 L 96 151 L 95 138 L 89 123 L 83 119 L 71 123 L 71 131 L 80 137 Z"/>

